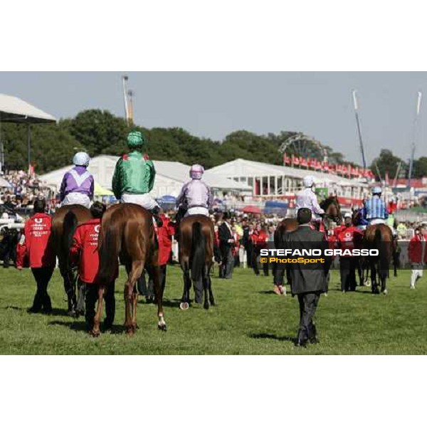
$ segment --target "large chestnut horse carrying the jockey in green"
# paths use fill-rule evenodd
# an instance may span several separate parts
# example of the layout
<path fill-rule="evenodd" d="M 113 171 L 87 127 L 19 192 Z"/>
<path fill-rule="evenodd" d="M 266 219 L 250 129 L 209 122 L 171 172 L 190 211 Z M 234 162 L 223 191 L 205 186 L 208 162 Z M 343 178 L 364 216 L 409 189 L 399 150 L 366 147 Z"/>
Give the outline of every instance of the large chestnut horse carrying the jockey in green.
<path fill-rule="evenodd" d="M 159 243 L 154 232 L 152 215 L 137 204 L 123 203 L 111 206 L 102 217 L 98 241 L 100 273 L 97 312 L 93 335 L 100 334 L 102 299 L 105 287 L 115 280 L 117 263 L 120 258 L 125 264 L 125 327 L 132 335 L 137 329 L 137 280 L 144 267 L 152 269 L 154 294 L 157 300 L 158 327 L 166 331 L 163 314 L 163 290 L 159 283 Z"/>

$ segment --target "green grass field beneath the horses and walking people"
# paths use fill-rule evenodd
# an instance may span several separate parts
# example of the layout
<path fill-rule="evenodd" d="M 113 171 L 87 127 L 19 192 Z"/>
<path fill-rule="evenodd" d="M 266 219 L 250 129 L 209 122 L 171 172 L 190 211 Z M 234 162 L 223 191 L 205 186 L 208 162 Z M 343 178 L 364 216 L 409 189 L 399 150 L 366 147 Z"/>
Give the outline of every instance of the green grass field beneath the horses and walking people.
<path fill-rule="evenodd" d="M 141 300 L 139 329 L 132 338 L 122 328 L 121 270 L 115 329 L 94 339 L 82 317 L 66 315 L 58 270 L 49 285 L 53 314 L 30 315 L 26 308 L 36 287 L 31 271 L 1 269 L 0 354 L 427 354 L 426 278 L 409 290 L 409 274 L 400 271 L 399 278 L 391 278 L 387 296 L 371 295 L 370 288 L 343 295 L 334 271 L 315 317 L 320 344 L 300 349 L 291 341 L 298 325 L 296 298 L 275 295 L 271 276 L 255 277 L 251 270 L 235 269 L 233 280 L 214 278 L 217 305 L 209 310 L 193 305 L 183 312 L 180 270 L 168 266 L 168 331 L 157 330 L 157 307 Z"/>

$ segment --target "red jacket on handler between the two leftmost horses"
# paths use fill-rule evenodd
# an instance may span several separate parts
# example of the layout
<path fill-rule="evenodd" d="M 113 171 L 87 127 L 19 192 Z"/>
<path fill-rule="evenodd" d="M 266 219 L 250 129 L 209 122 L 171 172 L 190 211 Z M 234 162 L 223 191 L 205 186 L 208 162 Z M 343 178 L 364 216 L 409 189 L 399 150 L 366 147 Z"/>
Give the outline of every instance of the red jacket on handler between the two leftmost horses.
<path fill-rule="evenodd" d="M 75 229 L 70 257 L 73 263 L 79 264 L 80 280 L 85 283 L 97 283 L 100 258 L 97 251 L 97 240 L 100 233 L 100 218 L 91 219 Z M 118 275 L 118 264 L 117 273 Z"/>

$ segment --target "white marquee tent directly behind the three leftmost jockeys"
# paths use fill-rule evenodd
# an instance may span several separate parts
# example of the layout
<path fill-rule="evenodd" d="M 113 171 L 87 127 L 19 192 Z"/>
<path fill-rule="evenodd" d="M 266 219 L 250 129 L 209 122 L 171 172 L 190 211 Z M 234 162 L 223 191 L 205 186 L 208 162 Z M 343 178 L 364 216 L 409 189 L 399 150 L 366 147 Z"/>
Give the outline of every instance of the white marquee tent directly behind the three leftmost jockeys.
<path fill-rule="evenodd" d="M 114 174 L 117 159 L 118 157 L 115 156 L 100 155 L 90 160 L 88 170 L 93 174 L 95 181 L 105 189 L 111 189 L 112 175 Z M 178 196 L 184 182 L 189 181 L 190 167 L 180 162 L 154 160 L 153 163 L 156 169 L 156 179 L 154 180 L 152 196 Z M 73 166 L 69 165 L 57 169 L 56 171 L 49 172 L 48 174 L 41 175 L 40 179 L 59 191 L 63 176 L 71 167 Z M 251 191 L 251 187 L 247 184 L 227 179 L 214 172 L 206 171 L 203 179 L 206 184 L 211 186 L 214 190 Z"/>

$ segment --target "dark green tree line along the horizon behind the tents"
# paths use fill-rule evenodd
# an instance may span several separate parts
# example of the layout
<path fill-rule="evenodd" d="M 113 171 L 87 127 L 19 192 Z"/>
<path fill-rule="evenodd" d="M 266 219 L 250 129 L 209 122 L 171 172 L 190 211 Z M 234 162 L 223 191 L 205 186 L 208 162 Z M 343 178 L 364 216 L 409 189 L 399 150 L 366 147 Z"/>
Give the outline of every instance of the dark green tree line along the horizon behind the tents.
<path fill-rule="evenodd" d="M 238 130 L 227 135 L 222 142 L 196 137 L 180 127 L 147 129 L 133 126 L 147 136 L 147 152 L 154 160 L 168 160 L 185 164 L 200 163 L 206 169 L 233 159 L 241 158 L 255 162 L 283 164 L 280 147 L 298 132 L 282 131 L 279 134 L 256 135 Z M 75 152 L 85 150 L 91 157 L 99 154 L 121 155 L 126 152 L 126 136 L 130 127 L 122 117 L 107 110 L 85 110 L 73 118 L 58 123 L 33 125 L 31 127 L 31 162 L 36 173 L 43 174 L 70 164 Z M 6 169 L 26 169 L 27 130 L 26 126 L 2 123 L 0 140 L 4 144 Z M 288 155 L 299 155 L 323 160 L 327 156 L 332 164 L 344 163 L 342 153 L 334 152 L 325 144 L 301 137 L 298 143 L 290 144 L 285 150 Z M 346 162 L 357 166 L 352 162 Z M 399 167 L 399 164 L 401 165 Z M 371 170 L 378 178 L 386 174 L 393 179 L 399 167 L 399 176 L 405 176 L 408 164 L 388 150 L 383 149 L 374 159 Z M 416 159 L 413 177 L 427 175 L 427 157 Z"/>

